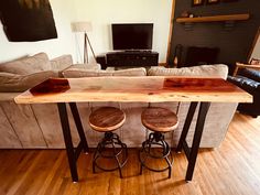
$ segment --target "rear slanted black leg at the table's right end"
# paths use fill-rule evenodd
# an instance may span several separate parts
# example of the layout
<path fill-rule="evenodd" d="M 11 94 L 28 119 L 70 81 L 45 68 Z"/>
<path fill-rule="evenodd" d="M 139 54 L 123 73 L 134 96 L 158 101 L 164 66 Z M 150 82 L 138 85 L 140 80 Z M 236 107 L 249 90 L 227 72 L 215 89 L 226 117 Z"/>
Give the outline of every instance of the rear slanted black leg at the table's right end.
<path fill-rule="evenodd" d="M 185 139 L 187 137 L 187 132 L 188 132 L 188 129 L 191 127 L 193 116 L 195 113 L 196 108 L 197 108 L 197 102 L 191 102 L 188 111 L 187 111 L 187 117 L 185 119 L 185 123 L 184 123 L 184 127 L 183 127 L 183 130 L 182 130 L 182 134 L 181 134 L 181 138 L 180 138 L 180 141 L 178 141 L 177 148 L 176 148 L 176 152 L 182 151 L 183 142 L 185 141 Z"/>

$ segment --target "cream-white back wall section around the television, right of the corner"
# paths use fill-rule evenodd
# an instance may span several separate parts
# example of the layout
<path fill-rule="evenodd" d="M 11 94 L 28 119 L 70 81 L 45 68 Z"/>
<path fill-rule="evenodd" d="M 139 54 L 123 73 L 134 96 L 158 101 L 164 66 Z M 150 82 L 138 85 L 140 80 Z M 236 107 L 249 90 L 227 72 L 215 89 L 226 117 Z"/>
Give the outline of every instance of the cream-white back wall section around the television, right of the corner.
<path fill-rule="evenodd" d="M 166 62 L 172 0 L 74 0 L 76 18 L 91 21 L 90 42 L 97 54 L 112 50 L 111 23 L 154 23 L 153 50 Z"/>

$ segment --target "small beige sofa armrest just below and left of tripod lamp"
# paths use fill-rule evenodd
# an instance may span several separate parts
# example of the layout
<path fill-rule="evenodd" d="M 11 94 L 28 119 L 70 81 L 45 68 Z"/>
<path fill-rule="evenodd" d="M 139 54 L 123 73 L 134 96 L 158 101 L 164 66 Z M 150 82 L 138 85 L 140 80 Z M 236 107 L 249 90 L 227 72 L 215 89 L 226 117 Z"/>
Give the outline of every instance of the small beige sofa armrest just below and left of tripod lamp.
<path fill-rule="evenodd" d="M 59 57 L 51 59 L 51 66 L 53 71 L 63 71 L 73 64 L 72 55 L 62 55 Z"/>

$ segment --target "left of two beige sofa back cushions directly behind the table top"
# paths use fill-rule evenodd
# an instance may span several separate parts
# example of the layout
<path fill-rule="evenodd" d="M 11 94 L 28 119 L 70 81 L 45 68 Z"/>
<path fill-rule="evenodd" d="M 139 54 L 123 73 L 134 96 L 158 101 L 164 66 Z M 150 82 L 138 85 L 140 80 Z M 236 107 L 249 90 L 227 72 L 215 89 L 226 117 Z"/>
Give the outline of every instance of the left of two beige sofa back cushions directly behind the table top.
<path fill-rule="evenodd" d="M 145 76 L 145 75 L 147 71 L 143 67 L 120 69 L 120 71 L 67 68 L 66 71 L 63 72 L 63 76 L 66 78 L 98 77 L 98 76 Z"/>

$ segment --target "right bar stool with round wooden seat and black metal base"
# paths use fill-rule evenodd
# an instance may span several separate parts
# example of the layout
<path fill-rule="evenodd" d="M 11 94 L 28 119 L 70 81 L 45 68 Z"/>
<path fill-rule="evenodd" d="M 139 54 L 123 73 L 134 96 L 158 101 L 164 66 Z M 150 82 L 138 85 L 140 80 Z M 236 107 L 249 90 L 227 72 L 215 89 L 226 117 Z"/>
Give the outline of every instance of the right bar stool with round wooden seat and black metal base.
<path fill-rule="evenodd" d="M 139 152 L 139 160 L 141 162 L 140 174 L 142 174 L 143 166 L 154 172 L 169 170 L 169 178 L 171 178 L 173 156 L 167 142 L 164 140 L 164 133 L 176 129 L 178 124 L 177 116 L 166 108 L 151 107 L 142 112 L 141 120 L 142 124 L 153 132 L 142 143 L 142 149 Z M 152 150 L 152 147 L 156 149 Z M 147 163 L 148 159 L 165 160 L 167 166 L 164 169 L 150 167 Z"/>

